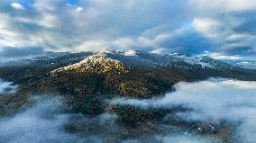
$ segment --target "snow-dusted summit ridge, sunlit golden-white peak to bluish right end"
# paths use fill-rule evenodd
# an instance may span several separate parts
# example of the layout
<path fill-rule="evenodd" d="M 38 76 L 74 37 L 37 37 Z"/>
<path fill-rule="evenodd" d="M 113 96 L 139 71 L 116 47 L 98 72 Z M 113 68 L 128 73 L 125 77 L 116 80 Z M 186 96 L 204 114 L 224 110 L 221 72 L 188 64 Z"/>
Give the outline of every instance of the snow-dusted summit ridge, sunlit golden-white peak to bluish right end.
<path fill-rule="evenodd" d="M 205 59 L 205 56 L 192 57 L 184 54 L 157 54 L 141 50 L 108 50 L 92 52 L 91 55 L 85 57 L 78 63 L 67 67 L 60 67 L 61 70 L 68 70 L 74 67 L 87 66 L 88 63 L 104 63 L 112 61 L 122 63 L 128 66 L 145 66 L 145 67 L 172 67 L 177 66 L 176 62 L 185 62 L 192 66 L 201 66 L 203 68 L 215 68 L 222 66 L 216 59 Z M 59 69 L 56 69 L 58 71 Z"/>

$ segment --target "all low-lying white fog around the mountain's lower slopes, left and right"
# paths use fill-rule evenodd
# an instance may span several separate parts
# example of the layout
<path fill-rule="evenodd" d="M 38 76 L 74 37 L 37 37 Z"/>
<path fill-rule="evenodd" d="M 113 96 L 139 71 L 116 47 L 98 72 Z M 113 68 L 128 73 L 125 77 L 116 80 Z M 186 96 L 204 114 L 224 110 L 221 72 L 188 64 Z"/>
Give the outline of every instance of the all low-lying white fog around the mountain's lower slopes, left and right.
<path fill-rule="evenodd" d="M 183 106 L 192 110 L 178 112 L 187 121 L 228 121 L 236 126 L 235 142 L 256 140 L 256 82 L 213 78 L 197 83 L 178 83 L 176 92 L 148 100 L 119 98 L 112 104 L 136 106 L 143 109 Z M 2 86 L 0 86 L 0 91 Z M 155 123 L 153 134 L 127 129 L 115 122 L 116 115 L 96 117 L 61 112 L 59 97 L 41 96 L 14 116 L 0 119 L 0 142 L 123 142 L 123 143 L 215 143 L 203 135 L 163 123 Z M 72 128 L 76 130 L 72 130 Z M 146 127 L 147 128 L 147 127 Z M 69 131 L 67 131 L 67 129 Z M 151 128 L 147 128 L 151 129 Z M 141 129 L 143 130 L 143 129 Z"/>

